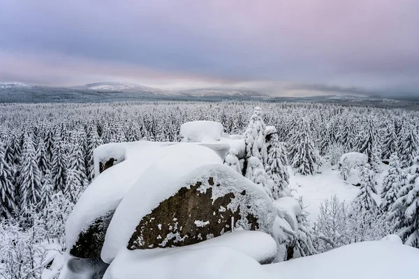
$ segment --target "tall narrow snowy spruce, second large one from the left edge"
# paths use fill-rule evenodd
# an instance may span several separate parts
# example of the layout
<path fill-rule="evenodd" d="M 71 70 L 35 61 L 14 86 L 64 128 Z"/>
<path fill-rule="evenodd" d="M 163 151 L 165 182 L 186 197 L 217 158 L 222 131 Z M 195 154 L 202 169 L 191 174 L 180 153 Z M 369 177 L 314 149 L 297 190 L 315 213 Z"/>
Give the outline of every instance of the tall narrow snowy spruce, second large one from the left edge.
<path fill-rule="evenodd" d="M 36 151 L 31 136 L 24 136 L 22 165 L 19 172 L 19 197 L 23 212 L 34 209 L 41 197 L 41 172 L 36 161 Z"/>

